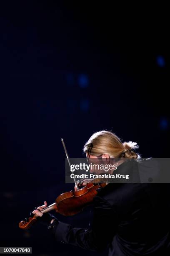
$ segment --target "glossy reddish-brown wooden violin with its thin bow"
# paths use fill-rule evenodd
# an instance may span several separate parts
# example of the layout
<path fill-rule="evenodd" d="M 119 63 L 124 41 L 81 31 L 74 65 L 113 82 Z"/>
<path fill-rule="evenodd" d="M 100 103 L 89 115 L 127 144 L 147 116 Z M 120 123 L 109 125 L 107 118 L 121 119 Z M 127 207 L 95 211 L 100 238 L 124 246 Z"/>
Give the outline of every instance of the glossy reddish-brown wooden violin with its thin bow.
<path fill-rule="evenodd" d="M 62 144 L 65 149 L 68 163 L 70 165 L 70 160 L 63 139 Z M 76 191 L 71 190 L 69 192 L 62 193 L 56 198 L 55 203 L 47 206 L 41 210 L 41 212 L 46 213 L 51 210 L 55 210 L 64 216 L 75 215 L 81 212 L 86 206 L 90 205 L 93 201 L 93 198 L 97 195 L 98 190 L 100 188 L 104 188 L 107 185 L 106 183 L 98 183 L 100 182 L 99 179 L 90 181 L 90 183 L 87 183 L 84 187 L 78 187 L 77 181 L 75 179 L 74 182 L 77 189 Z M 83 180 L 83 183 L 86 183 L 86 180 Z M 30 212 L 30 217 L 20 221 L 19 227 L 22 229 L 28 229 L 33 223 L 36 222 L 36 219 L 37 216 Z"/>

